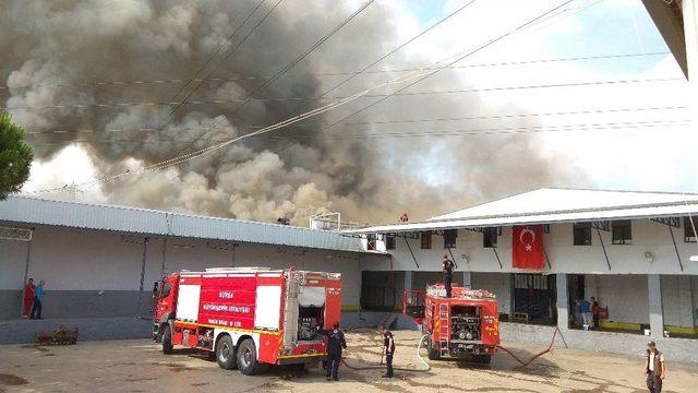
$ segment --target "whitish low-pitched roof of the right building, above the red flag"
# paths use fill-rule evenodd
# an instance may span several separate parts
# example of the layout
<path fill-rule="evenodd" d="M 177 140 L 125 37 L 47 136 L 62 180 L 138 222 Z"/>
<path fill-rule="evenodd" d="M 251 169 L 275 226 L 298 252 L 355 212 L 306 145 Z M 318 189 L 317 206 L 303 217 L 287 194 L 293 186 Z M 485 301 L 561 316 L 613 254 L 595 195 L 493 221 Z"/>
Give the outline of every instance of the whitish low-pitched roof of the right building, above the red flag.
<path fill-rule="evenodd" d="M 698 215 L 698 195 L 540 189 L 432 217 L 422 223 L 383 225 L 352 233 L 399 233 L 686 215 Z"/>

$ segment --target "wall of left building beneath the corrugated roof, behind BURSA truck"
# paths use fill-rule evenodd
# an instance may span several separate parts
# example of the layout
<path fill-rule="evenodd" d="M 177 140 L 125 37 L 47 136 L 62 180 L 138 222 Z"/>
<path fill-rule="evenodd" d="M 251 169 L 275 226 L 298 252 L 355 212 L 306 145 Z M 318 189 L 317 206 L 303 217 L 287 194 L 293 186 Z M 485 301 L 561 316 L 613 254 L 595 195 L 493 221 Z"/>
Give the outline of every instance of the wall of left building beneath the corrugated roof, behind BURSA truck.
<path fill-rule="evenodd" d="M 26 263 L 26 242 L 0 240 L 0 319 L 20 315 Z M 153 283 L 163 272 L 214 266 L 294 266 L 342 274 L 342 303 L 358 306 L 361 264 L 376 257 L 241 243 L 234 250 L 206 240 L 149 239 L 144 294 L 139 288 L 145 245 L 143 237 L 107 231 L 37 228 L 32 239 L 28 277 L 46 279 L 45 318 L 120 317 L 149 314 Z M 386 258 L 382 258 L 385 260 Z"/>

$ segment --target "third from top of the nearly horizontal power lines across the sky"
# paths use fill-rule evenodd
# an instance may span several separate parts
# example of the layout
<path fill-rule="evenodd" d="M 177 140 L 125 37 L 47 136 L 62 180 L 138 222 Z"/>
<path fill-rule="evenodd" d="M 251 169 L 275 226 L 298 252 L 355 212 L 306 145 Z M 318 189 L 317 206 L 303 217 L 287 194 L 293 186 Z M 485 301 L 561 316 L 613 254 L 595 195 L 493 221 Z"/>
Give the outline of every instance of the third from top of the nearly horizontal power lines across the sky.
<path fill-rule="evenodd" d="M 655 110 L 683 110 L 688 109 L 686 106 L 654 106 L 654 107 L 638 107 L 638 108 L 609 108 L 609 109 L 586 109 L 586 110 L 561 110 L 549 111 L 538 114 L 506 114 L 506 115 L 478 115 L 478 116 L 465 116 L 465 117 L 440 117 L 440 118 L 422 118 L 422 119 L 387 119 L 375 121 L 359 121 L 359 122 L 346 122 L 344 126 L 377 126 L 377 124 L 393 124 L 393 123 L 421 123 L 421 122 L 441 122 L 441 121 L 464 121 L 464 120 L 493 120 L 493 119 L 510 119 L 510 118 L 529 118 L 529 117 L 544 117 L 544 116 L 569 116 L 569 115 L 594 115 L 594 114 L 622 114 L 622 112 L 636 112 L 636 111 L 655 111 Z M 314 128 L 316 124 L 296 124 L 296 128 Z M 207 127 L 189 127 L 169 129 L 172 132 L 182 131 L 198 131 L 205 130 Z M 240 130 L 240 129 L 262 129 L 263 126 L 234 126 L 234 127 L 219 127 L 217 130 Z M 74 129 L 74 130 L 45 130 L 45 131 L 27 131 L 26 134 L 68 134 L 68 133 L 128 133 L 128 132 L 151 132 L 157 130 L 156 128 L 133 128 L 133 129 Z"/>

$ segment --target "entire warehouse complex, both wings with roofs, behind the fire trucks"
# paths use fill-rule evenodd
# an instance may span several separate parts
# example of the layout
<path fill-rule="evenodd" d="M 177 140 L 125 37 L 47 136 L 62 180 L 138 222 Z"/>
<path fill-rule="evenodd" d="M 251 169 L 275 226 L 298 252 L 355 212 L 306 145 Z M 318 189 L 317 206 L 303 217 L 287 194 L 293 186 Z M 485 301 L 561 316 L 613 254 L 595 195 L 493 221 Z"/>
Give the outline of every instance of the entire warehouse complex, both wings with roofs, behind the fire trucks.
<path fill-rule="evenodd" d="M 559 327 L 573 347 L 639 353 L 651 333 L 673 358 L 698 361 L 695 215 L 698 194 L 541 189 L 338 231 L 10 196 L 0 202 L 0 318 L 45 322 L 19 320 L 27 277 L 47 282 L 47 321 L 87 323 L 149 318 L 153 283 L 181 269 L 296 266 L 341 273 L 344 324 L 375 325 L 405 290 L 441 281 L 447 254 L 455 281 L 496 295 L 504 340 L 544 343 Z M 542 269 L 513 266 L 513 230 L 529 225 L 544 228 Z M 591 296 L 607 318 L 582 332 L 575 300 Z"/>

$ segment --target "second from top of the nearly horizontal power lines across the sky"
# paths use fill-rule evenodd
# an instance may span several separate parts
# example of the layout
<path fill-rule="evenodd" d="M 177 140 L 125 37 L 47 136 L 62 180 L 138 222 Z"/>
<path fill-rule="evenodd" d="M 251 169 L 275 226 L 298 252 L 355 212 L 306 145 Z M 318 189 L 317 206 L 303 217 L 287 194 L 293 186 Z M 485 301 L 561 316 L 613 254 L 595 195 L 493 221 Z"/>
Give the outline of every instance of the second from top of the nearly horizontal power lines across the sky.
<path fill-rule="evenodd" d="M 590 81 L 590 82 L 571 82 L 571 83 L 550 83 L 550 84 L 537 84 L 537 85 L 524 85 L 524 86 L 495 86 L 495 87 L 476 87 L 476 88 L 455 88 L 445 91 L 424 91 L 424 92 L 398 92 L 387 94 L 366 94 L 362 98 L 382 98 L 392 96 L 422 96 L 422 95 L 437 95 L 437 94 L 456 94 L 456 93 L 483 93 L 483 92 L 500 92 L 500 91 L 516 91 L 516 90 L 529 90 L 529 88 L 553 88 L 553 87 L 578 87 L 578 86 L 595 86 L 595 85 L 612 85 L 612 84 L 636 84 L 636 83 L 655 83 L 655 82 L 685 82 L 684 78 L 651 78 L 651 79 L 635 79 L 635 80 L 615 80 L 615 81 Z M 346 96 L 333 96 L 333 97 L 268 97 L 268 98 L 251 98 L 245 99 L 212 99 L 212 100 L 190 100 L 190 102 L 140 102 L 140 103 L 103 103 L 103 104 L 64 104 L 64 105 L 47 105 L 43 107 L 36 106 L 19 106 L 19 107 L 0 107 L 5 110 L 51 110 L 51 109 L 84 109 L 84 108 L 111 108 L 111 107 L 133 107 L 133 106 L 171 106 L 171 105 L 227 105 L 236 103 L 254 102 L 312 102 L 312 100 L 332 100 L 344 99 Z M 215 127 L 214 127 L 215 128 Z"/>

